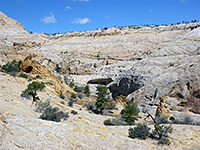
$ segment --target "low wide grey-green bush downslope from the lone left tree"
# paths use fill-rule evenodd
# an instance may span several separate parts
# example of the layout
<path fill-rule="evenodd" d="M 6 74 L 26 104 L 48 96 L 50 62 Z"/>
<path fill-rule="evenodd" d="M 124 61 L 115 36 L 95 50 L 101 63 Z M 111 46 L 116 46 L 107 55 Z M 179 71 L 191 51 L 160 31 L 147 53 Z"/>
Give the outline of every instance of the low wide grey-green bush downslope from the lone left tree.
<path fill-rule="evenodd" d="M 63 111 L 60 111 L 57 107 L 46 107 L 40 116 L 43 120 L 50 120 L 55 122 L 60 122 L 62 118 L 68 118 L 68 113 L 64 113 Z"/>

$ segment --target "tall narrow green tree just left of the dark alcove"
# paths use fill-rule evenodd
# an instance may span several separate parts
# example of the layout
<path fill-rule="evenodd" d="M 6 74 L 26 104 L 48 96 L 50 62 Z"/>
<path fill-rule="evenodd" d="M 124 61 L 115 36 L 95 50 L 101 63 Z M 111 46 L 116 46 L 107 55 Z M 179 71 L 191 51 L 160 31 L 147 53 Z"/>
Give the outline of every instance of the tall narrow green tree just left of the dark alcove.
<path fill-rule="evenodd" d="M 102 112 L 102 110 L 105 109 L 107 103 L 108 103 L 108 92 L 107 92 L 107 87 L 103 87 L 103 86 L 97 86 L 97 101 L 95 103 L 95 106 L 98 110 L 100 110 Z"/>

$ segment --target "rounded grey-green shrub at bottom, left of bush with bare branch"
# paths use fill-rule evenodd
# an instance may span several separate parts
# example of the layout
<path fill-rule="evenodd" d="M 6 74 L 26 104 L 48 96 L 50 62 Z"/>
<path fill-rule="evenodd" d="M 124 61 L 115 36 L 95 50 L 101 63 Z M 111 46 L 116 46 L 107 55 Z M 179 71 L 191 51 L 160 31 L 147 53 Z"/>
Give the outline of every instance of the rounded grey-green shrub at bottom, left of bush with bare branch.
<path fill-rule="evenodd" d="M 134 128 L 129 128 L 128 133 L 130 138 L 146 139 L 149 136 L 150 128 L 145 124 L 137 124 Z"/>

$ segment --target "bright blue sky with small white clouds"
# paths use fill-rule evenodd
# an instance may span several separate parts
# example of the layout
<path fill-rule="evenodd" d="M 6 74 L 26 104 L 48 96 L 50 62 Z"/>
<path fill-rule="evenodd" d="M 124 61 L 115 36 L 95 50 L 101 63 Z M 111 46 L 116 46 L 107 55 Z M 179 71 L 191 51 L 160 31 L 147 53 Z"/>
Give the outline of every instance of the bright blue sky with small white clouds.
<path fill-rule="evenodd" d="M 64 33 L 200 20 L 200 0 L 0 0 L 27 31 Z"/>

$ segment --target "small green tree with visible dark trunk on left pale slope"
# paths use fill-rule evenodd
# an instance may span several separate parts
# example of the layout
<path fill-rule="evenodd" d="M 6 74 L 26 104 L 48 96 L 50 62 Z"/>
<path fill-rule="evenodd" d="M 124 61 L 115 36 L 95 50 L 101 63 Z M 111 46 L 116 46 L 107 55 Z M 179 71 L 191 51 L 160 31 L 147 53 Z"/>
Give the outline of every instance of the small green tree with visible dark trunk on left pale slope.
<path fill-rule="evenodd" d="M 37 97 L 37 91 L 42 91 L 45 88 L 45 84 L 43 82 L 32 82 L 28 86 L 28 88 L 22 91 L 22 95 L 30 95 L 33 97 L 33 102 L 39 100 Z"/>

